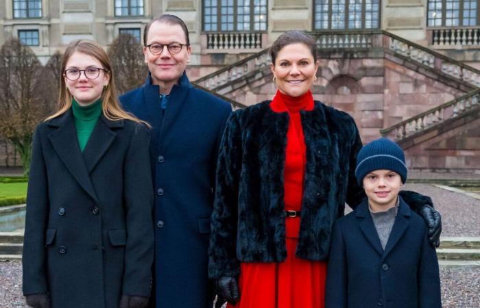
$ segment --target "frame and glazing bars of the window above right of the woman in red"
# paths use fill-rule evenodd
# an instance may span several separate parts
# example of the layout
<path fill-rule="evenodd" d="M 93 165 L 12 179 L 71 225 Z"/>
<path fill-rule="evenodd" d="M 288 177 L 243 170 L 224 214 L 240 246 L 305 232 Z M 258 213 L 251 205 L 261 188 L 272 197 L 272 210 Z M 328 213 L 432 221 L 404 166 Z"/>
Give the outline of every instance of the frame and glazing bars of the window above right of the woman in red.
<path fill-rule="evenodd" d="M 315 16 L 317 14 L 317 1 L 313 1 L 313 13 L 312 13 L 312 29 L 313 31 L 358 31 L 358 30 L 376 30 L 376 29 L 381 29 L 381 23 L 382 23 L 382 0 L 379 0 L 379 6 L 378 6 L 378 24 L 376 27 L 370 27 L 367 28 L 365 27 L 366 19 L 366 0 L 361 0 L 361 27 L 355 28 L 349 27 L 350 19 L 348 18 L 350 16 L 350 0 L 345 0 L 345 19 L 344 19 L 344 27 L 343 28 L 332 28 L 332 21 L 333 21 L 333 1 L 328 0 L 328 27 L 322 28 L 322 27 L 316 27 L 317 20 L 315 19 Z M 373 11 L 372 11 L 373 12 Z"/>

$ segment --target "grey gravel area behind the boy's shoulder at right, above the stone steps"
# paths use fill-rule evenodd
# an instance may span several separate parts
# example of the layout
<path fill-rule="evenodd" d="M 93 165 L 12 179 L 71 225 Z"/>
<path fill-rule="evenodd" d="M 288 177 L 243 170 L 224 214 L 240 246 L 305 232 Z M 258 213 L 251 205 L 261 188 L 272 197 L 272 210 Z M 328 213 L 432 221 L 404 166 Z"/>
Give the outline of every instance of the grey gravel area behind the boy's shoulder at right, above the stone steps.
<path fill-rule="evenodd" d="M 480 200 L 426 184 L 407 183 L 404 188 L 432 198 L 442 214 L 442 236 L 480 236 Z"/>

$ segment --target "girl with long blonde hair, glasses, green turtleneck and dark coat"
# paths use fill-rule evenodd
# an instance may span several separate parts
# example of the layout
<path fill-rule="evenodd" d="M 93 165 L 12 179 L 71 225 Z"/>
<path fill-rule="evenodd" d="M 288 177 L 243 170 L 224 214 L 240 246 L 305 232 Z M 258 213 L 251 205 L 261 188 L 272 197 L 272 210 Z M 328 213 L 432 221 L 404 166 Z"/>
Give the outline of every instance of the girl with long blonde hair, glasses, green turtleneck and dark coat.
<path fill-rule="evenodd" d="M 23 246 L 31 307 L 146 307 L 153 262 L 145 123 L 116 99 L 90 40 L 62 58 L 59 110 L 34 133 Z"/>

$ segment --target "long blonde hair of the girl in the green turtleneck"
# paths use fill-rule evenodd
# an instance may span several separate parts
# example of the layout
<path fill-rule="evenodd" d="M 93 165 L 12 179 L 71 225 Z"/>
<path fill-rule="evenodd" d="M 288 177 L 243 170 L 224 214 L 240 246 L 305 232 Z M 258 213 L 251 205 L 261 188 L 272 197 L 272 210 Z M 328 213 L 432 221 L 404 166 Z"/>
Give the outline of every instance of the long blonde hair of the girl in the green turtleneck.
<path fill-rule="evenodd" d="M 115 88 L 115 77 L 112 73 L 112 64 L 110 64 L 110 59 L 108 59 L 107 53 L 104 51 L 101 46 L 93 40 L 74 40 L 69 44 L 65 53 L 62 57 L 62 67 L 60 75 L 60 95 L 58 98 L 58 110 L 45 120 L 50 120 L 51 118 L 56 118 L 61 114 L 64 114 L 69 110 L 72 105 L 72 95 L 67 89 L 67 84 L 65 84 L 64 72 L 67 66 L 71 55 L 75 53 L 85 53 L 91 57 L 95 57 L 100 63 L 101 66 L 106 70 L 105 74 L 110 75 L 110 81 L 108 85 L 104 88 L 104 91 L 101 93 L 101 109 L 103 114 L 108 120 L 132 120 L 137 123 L 144 123 L 148 127 L 150 125 L 143 121 L 139 120 L 132 114 L 125 112 L 120 106 L 119 100 L 117 99 L 117 89 Z"/>

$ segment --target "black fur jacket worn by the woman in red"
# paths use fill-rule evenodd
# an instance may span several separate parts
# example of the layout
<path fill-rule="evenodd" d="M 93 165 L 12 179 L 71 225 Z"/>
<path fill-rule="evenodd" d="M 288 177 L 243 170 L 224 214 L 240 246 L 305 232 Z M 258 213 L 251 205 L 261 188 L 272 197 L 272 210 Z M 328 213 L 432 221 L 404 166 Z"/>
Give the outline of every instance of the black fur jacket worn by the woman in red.
<path fill-rule="evenodd" d="M 325 260 L 333 222 L 344 205 L 355 207 L 365 193 L 355 180 L 362 143 L 351 116 L 318 101 L 300 112 L 307 166 L 296 255 Z M 217 164 L 208 274 L 237 276 L 240 262 L 279 262 L 285 248 L 283 170 L 289 116 L 269 101 L 237 110 L 228 119 Z M 428 197 L 401 192 L 412 207 Z M 413 197 L 413 198 L 412 198 Z"/>

